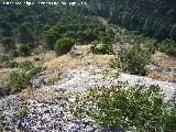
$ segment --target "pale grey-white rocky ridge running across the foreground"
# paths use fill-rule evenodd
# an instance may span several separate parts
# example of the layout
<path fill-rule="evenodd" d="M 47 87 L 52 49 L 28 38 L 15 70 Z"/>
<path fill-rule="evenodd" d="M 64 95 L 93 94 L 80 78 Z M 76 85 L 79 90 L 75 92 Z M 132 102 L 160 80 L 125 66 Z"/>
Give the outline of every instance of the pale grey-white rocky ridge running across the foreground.
<path fill-rule="evenodd" d="M 48 72 L 50 73 L 50 72 Z M 106 132 L 91 119 L 79 120 L 69 112 L 69 105 L 77 96 L 92 87 L 110 87 L 118 84 L 117 76 L 109 77 L 116 69 L 94 64 L 66 70 L 62 79 L 54 86 L 33 88 L 28 94 L 11 95 L 0 100 L 2 127 L 6 131 L 15 132 Z M 147 77 L 121 74 L 120 80 L 133 84 L 158 85 L 166 99 L 172 99 L 176 84 L 153 80 Z M 19 118 L 21 107 L 28 108 L 29 114 Z"/>

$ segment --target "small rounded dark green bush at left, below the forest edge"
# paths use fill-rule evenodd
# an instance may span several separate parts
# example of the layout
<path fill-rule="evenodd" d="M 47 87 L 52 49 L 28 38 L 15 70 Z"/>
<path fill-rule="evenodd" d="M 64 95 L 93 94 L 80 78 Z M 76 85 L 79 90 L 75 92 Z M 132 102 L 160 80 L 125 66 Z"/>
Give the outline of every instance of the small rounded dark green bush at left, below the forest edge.
<path fill-rule="evenodd" d="M 29 44 L 22 44 L 19 47 L 19 54 L 21 56 L 30 56 L 32 53 L 32 47 Z"/>

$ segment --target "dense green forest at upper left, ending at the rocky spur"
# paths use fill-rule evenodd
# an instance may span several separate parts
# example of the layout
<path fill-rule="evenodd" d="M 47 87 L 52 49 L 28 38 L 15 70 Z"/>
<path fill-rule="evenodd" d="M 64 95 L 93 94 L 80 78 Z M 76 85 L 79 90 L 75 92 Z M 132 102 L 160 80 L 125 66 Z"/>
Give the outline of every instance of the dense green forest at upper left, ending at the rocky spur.
<path fill-rule="evenodd" d="M 75 38 L 80 44 L 95 40 L 111 43 L 113 32 L 106 30 L 84 9 L 80 12 L 81 7 L 85 6 L 0 4 L 0 40 L 3 47 L 15 50 L 20 44 L 20 54 L 26 56 L 32 50 L 24 45 L 36 47 L 42 44 L 54 50 L 56 41 L 62 37 Z"/>

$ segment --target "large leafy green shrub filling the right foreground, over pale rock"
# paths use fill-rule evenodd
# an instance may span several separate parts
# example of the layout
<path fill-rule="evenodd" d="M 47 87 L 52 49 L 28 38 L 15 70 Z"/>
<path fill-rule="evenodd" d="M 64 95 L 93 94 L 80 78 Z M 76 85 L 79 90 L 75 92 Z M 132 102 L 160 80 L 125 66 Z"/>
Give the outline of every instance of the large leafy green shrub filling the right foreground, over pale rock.
<path fill-rule="evenodd" d="M 74 106 L 72 111 L 76 117 L 90 117 L 110 130 L 121 128 L 135 132 L 176 131 L 176 109 L 164 100 L 157 86 L 130 86 L 119 81 L 112 88 L 89 90 Z"/>

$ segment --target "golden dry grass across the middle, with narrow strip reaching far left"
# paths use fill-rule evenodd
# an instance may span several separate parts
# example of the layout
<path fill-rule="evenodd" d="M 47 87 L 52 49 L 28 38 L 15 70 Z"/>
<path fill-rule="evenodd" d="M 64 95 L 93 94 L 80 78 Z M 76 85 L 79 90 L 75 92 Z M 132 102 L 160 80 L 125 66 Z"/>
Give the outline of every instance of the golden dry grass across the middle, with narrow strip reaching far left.
<path fill-rule="evenodd" d="M 84 57 L 78 58 L 75 53 L 82 53 Z M 35 56 L 29 57 L 16 57 L 14 62 L 22 63 L 25 61 L 34 62 L 35 65 L 42 65 L 48 67 L 48 69 L 74 69 L 79 65 L 85 65 L 88 63 L 98 63 L 99 65 L 109 65 L 112 55 L 94 55 L 90 53 L 90 45 L 79 45 L 76 51 L 56 57 L 54 52 L 46 52 L 37 55 L 41 61 L 35 62 Z"/>

